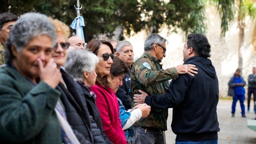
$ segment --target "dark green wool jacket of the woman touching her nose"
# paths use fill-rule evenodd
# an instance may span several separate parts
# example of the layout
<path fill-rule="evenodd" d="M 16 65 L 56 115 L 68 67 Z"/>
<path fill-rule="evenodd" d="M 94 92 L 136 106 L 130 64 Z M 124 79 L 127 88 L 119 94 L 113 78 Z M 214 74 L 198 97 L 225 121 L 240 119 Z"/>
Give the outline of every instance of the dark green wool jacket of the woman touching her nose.
<path fill-rule="evenodd" d="M 1 143 L 61 144 L 54 111 L 59 98 L 43 81 L 34 86 L 15 68 L 0 68 Z"/>

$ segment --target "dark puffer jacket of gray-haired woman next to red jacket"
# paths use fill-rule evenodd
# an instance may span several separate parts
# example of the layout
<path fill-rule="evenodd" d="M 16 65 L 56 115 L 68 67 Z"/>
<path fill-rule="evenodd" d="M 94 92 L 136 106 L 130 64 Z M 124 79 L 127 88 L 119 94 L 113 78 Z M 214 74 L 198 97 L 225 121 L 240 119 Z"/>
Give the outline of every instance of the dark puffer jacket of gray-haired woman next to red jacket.
<path fill-rule="evenodd" d="M 83 102 L 85 103 L 85 105 L 87 105 L 88 111 L 92 118 L 91 119 L 92 131 L 95 132 L 95 135 L 98 135 L 99 139 L 103 138 L 107 144 L 112 144 L 112 142 L 108 139 L 108 136 L 104 133 L 104 129 L 103 129 L 101 117 L 100 117 L 100 112 L 95 104 L 94 98 L 82 84 L 79 84 L 76 82 L 76 88 L 77 88 L 77 92 L 83 98 Z M 97 129 L 97 131 L 96 131 L 96 129 Z M 98 132 L 98 130 L 100 130 L 100 131 Z"/>

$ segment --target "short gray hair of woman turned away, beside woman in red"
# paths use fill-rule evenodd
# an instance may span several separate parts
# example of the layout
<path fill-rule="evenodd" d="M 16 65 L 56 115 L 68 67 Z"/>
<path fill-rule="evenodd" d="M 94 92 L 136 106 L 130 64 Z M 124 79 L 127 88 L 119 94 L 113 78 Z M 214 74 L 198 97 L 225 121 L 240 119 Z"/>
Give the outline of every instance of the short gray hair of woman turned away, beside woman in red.
<path fill-rule="evenodd" d="M 87 50 L 71 50 L 67 53 L 64 63 L 65 71 L 73 77 L 74 81 L 83 82 L 84 71 L 92 74 L 92 70 L 99 62 L 99 58 Z"/>

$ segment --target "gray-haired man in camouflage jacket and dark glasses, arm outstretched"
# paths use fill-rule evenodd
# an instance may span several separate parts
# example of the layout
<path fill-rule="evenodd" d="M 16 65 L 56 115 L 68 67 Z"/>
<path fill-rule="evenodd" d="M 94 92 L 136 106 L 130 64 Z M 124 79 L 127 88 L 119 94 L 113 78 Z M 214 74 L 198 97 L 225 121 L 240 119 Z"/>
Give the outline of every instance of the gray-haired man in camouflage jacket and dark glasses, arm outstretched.
<path fill-rule="evenodd" d="M 131 70 L 131 101 L 132 108 L 136 105 L 134 94 L 139 90 L 149 95 L 160 96 L 169 86 L 170 79 L 178 78 L 178 74 L 197 74 L 195 65 L 186 64 L 173 68 L 163 69 L 160 62 L 166 56 L 166 43 L 168 41 L 160 35 L 149 34 L 144 43 L 143 55 L 134 62 Z M 194 73 L 194 74 L 193 74 Z M 167 130 L 168 109 L 151 109 L 146 118 L 134 123 L 134 136 L 136 144 L 164 144 L 164 131 Z"/>

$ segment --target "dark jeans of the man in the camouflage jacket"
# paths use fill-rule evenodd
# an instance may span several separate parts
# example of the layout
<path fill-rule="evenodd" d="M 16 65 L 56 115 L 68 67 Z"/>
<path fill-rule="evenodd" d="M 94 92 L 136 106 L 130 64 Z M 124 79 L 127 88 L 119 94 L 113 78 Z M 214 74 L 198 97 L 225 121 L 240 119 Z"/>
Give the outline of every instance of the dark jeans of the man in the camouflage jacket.
<path fill-rule="evenodd" d="M 164 133 L 160 134 L 159 131 L 154 129 L 147 129 L 145 132 L 144 127 L 133 126 L 135 144 L 165 144 Z"/>

